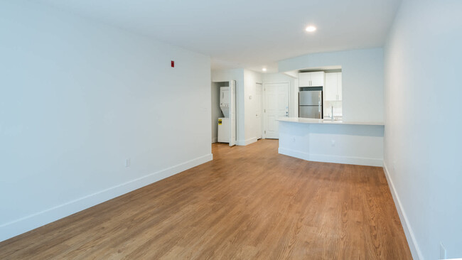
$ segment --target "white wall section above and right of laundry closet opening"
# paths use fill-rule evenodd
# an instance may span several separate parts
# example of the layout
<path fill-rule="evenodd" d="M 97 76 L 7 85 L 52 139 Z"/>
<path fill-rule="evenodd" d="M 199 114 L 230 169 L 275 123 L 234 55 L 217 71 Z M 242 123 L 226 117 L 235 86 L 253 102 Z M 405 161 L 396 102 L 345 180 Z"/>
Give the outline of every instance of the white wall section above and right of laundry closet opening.
<path fill-rule="evenodd" d="M 236 143 L 245 143 L 244 69 L 212 70 L 212 82 L 236 80 Z"/>

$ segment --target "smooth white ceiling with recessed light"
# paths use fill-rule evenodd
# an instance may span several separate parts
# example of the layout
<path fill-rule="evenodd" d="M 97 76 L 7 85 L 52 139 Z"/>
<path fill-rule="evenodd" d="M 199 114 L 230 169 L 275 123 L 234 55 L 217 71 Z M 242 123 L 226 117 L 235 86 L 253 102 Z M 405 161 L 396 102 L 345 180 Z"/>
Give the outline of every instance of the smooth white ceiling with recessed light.
<path fill-rule="evenodd" d="M 401 0 L 39 0 L 210 55 L 213 68 L 276 72 L 277 60 L 380 47 Z M 304 28 L 313 24 L 315 33 Z"/>

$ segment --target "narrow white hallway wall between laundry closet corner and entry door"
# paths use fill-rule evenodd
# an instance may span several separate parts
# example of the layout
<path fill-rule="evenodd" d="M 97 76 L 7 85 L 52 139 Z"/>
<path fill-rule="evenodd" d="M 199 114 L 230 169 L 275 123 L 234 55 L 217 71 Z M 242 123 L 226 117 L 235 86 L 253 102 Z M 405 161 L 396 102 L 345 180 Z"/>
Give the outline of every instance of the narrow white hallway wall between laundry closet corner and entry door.
<path fill-rule="evenodd" d="M 244 70 L 244 85 L 245 85 L 245 143 L 247 145 L 257 141 L 257 99 L 255 93 L 257 92 L 256 83 L 262 83 L 262 74 L 252 70 Z"/>

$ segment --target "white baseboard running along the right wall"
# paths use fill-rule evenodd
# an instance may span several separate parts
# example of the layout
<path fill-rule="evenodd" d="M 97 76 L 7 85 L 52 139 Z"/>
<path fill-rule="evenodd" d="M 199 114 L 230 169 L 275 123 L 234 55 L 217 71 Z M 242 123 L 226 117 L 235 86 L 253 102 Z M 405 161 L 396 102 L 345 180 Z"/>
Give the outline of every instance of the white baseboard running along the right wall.
<path fill-rule="evenodd" d="M 394 188 L 393 180 L 390 177 L 390 173 L 388 172 L 388 168 L 385 164 L 385 161 L 383 162 L 383 169 L 385 171 L 385 177 L 387 178 L 388 186 L 390 187 L 390 191 L 392 192 L 394 205 L 396 206 L 399 215 L 399 220 L 401 220 L 401 224 L 404 229 L 404 234 L 406 235 L 407 244 L 409 244 L 409 249 L 411 249 L 412 258 L 422 260 L 424 259 L 424 257 L 421 254 L 421 251 L 417 244 L 417 240 L 414 236 L 414 232 L 412 232 L 411 226 L 409 225 L 409 220 L 407 220 L 406 212 L 404 212 L 401 200 L 399 200 L 398 193 Z"/>

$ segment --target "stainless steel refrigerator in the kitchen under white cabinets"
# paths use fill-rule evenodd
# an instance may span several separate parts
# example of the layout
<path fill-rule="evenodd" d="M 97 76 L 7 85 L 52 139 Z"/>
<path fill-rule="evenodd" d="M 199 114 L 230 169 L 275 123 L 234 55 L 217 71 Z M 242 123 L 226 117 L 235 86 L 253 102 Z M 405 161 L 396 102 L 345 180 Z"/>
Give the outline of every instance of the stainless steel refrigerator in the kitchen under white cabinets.
<path fill-rule="evenodd" d="M 323 118 L 323 87 L 300 88 L 299 117 Z"/>

